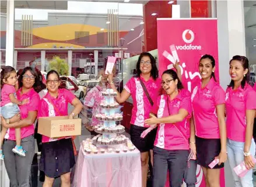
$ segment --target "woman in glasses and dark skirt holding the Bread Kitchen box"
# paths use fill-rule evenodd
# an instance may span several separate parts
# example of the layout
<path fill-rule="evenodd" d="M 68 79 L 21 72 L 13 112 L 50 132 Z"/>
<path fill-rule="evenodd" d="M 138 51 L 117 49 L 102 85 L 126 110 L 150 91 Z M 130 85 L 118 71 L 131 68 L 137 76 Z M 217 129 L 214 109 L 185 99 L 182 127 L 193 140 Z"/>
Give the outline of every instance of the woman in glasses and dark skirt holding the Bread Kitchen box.
<path fill-rule="evenodd" d="M 55 70 L 47 73 L 48 93 L 41 100 L 38 117 L 74 116 L 82 110 L 82 103 L 67 89 L 59 89 L 59 74 Z M 75 109 L 68 115 L 68 103 Z M 43 187 L 50 187 L 54 178 L 61 177 L 61 186 L 70 186 L 71 168 L 75 164 L 75 156 L 71 136 L 62 138 L 49 138 L 43 135 L 40 159 L 40 171 L 45 174 Z"/>

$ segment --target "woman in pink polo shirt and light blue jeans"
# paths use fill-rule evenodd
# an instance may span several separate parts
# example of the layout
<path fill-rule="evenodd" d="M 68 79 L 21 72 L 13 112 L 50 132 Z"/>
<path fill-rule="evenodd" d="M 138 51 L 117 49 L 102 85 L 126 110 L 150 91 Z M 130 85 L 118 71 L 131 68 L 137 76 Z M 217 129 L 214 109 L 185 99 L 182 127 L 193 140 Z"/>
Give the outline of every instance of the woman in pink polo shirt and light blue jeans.
<path fill-rule="evenodd" d="M 256 92 L 248 85 L 249 62 L 245 56 L 233 56 L 229 62 L 231 82 L 226 91 L 227 157 L 232 168 L 236 187 L 253 187 L 255 142 L 253 121 L 256 109 Z M 245 162 L 249 170 L 238 177 L 233 168 Z"/>

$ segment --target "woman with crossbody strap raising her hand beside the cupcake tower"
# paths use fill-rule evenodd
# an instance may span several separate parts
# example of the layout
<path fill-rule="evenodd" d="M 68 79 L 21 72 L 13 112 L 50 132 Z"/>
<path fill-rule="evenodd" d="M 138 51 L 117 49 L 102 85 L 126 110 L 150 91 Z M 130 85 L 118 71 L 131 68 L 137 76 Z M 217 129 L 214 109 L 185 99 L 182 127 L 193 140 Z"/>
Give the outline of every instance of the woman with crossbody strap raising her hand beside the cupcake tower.
<path fill-rule="evenodd" d="M 157 96 L 160 93 L 161 79 L 158 78 L 158 70 L 156 67 L 155 58 L 148 52 L 143 52 L 139 56 L 136 63 L 137 75 L 132 77 L 125 85 L 122 93 L 115 97 L 118 103 L 125 102 L 129 96 L 132 96 L 134 107 L 132 108 L 131 117 L 131 141 L 141 152 L 142 166 L 142 187 L 146 187 L 146 179 L 148 175 L 149 151 L 153 149 L 156 130 L 149 132 L 145 138 L 141 138 L 141 134 L 148 127 L 145 127 L 144 120 L 149 118 L 149 113 L 152 110 L 153 103 L 156 102 Z M 108 75 L 110 87 L 118 92 L 113 81 L 113 74 Z M 146 92 L 153 103 L 146 96 Z M 152 151 L 151 151 L 152 153 Z M 152 156 L 151 156 L 152 158 Z"/>

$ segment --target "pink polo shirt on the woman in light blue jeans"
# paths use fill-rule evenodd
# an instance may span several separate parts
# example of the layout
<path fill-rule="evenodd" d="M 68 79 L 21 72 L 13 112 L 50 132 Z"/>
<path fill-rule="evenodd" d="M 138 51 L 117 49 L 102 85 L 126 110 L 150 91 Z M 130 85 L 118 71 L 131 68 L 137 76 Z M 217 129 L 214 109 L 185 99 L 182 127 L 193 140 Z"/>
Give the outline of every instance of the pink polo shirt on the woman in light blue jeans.
<path fill-rule="evenodd" d="M 246 140 L 246 110 L 256 109 L 255 98 L 256 92 L 247 83 L 244 89 L 241 86 L 236 90 L 232 87 L 227 88 L 227 138 L 237 142 Z"/>

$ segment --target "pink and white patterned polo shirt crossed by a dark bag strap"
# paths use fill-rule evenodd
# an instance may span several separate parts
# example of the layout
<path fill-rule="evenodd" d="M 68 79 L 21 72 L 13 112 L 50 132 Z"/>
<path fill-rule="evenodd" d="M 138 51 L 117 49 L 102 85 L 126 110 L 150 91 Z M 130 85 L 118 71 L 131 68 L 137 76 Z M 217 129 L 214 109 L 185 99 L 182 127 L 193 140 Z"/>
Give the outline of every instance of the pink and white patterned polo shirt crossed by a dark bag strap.
<path fill-rule="evenodd" d="M 157 78 L 156 80 L 153 80 L 153 78 L 150 77 L 148 81 L 145 81 L 141 76 L 141 80 L 148 90 L 150 98 L 155 103 L 157 96 L 160 94 L 161 79 Z M 145 92 L 143 91 L 139 78 L 132 77 L 124 86 L 124 89 L 126 89 L 129 94 L 131 94 L 132 100 L 134 102 L 134 107 L 132 108 L 131 124 L 144 127 L 144 120 L 149 118 L 149 113 L 152 110 L 152 106 L 150 105 L 150 102 Z"/>

